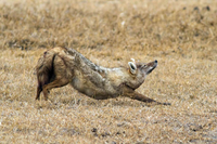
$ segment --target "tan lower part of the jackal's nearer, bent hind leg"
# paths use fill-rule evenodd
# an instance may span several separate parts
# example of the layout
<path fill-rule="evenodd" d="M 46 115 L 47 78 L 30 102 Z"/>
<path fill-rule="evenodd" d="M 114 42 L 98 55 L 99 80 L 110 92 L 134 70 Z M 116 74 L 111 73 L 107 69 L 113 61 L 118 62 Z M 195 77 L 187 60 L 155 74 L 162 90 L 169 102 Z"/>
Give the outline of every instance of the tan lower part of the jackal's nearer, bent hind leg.
<path fill-rule="evenodd" d="M 48 100 L 48 93 L 50 92 L 51 89 L 66 86 L 68 82 L 69 81 L 67 79 L 62 78 L 62 79 L 55 79 L 51 83 L 43 86 L 44 100 L 46 101 Z"/>

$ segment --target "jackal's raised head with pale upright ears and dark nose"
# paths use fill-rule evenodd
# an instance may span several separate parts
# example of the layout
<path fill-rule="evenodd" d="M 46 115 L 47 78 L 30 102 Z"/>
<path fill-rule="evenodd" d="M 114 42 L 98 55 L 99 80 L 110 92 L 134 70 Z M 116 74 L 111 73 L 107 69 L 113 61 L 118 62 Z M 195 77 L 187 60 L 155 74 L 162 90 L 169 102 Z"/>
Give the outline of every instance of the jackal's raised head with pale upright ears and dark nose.
<path fill-rule="evenodd" d="M 130 79 L 126 82 L 126 86 L 135 90 L 144 82 L 146 75 L 154 70 L 157 66 L 157 61 L 145 64 L 135 63 L 135 60 L 132 60 L 132 62 L 128 62 L 128 66 Z"/>

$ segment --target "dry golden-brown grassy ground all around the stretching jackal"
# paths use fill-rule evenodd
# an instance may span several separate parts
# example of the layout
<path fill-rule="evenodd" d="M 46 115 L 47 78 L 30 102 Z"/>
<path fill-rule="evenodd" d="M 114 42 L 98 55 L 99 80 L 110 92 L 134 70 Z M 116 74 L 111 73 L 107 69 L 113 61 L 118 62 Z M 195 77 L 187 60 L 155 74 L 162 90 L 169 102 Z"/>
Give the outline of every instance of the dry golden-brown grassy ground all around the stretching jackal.
<path fill-rule="evenodd" d="M 36 102 L 35 66 L 55 45 L 106 67 L 157 60 L 138 91 L 171 105 L 69 86 Z M 216 0 L 2 0 L 0 143 L 217 143 L 216 45 Z"/>

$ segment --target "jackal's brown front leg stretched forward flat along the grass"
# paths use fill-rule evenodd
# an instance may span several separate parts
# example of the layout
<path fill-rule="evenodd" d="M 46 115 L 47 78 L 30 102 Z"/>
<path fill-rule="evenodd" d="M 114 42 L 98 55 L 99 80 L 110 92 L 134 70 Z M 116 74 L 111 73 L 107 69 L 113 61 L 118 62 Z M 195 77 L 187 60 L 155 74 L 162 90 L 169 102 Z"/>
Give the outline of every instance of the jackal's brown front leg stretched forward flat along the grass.
<path fill-rule="evenodd" d="M 142 101 L 142 102 L 145 102 L 145 103 L 155 103 L 155 104 L 161 104 L 161 105 L 170 105 L 170 103 L 159 103 L 159 102 L 156 102 L 150 97 L 146 97 L 133 90 L 127 90 L 124 92 L 124 95 L 125 96 L 128 96 L 132 100 L 138 100 L 138 101 Z"/>

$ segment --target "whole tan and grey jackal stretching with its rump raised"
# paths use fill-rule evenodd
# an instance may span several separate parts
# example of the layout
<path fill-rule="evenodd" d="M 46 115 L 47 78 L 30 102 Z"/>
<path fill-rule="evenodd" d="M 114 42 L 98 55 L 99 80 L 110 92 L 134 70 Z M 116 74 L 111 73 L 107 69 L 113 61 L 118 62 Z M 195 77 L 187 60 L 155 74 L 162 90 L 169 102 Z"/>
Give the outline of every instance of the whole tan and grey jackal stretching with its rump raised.
<path fill-rule="evenodd" d="M 36 66 L 38 87 L 36 100 L 42 91 L 44 100 L 53 88 L 71 83 L 77 91 L 95 100 L 113 99 L 119 95 L 142 102 L 154 102 L 135 90 L 139 88 L 157 66 L 151 63 L 128 62 L 127 67 L 105 68 L 93 64 L 82 54 L 69 48 L 53 48 L 41 55 Z"/>

